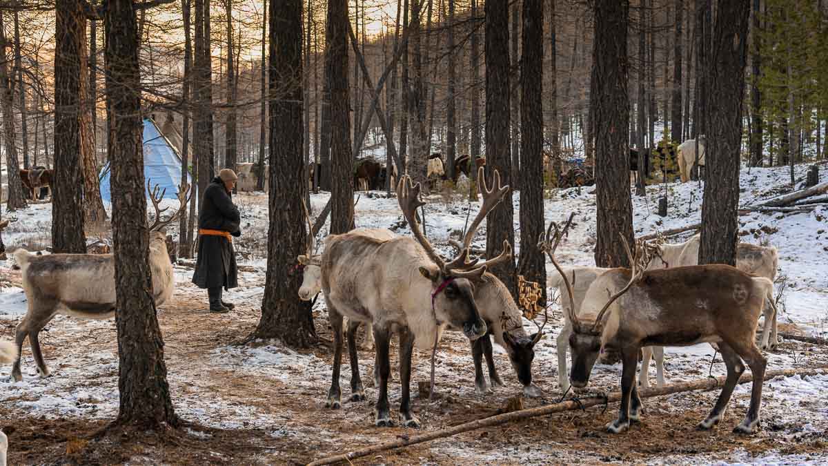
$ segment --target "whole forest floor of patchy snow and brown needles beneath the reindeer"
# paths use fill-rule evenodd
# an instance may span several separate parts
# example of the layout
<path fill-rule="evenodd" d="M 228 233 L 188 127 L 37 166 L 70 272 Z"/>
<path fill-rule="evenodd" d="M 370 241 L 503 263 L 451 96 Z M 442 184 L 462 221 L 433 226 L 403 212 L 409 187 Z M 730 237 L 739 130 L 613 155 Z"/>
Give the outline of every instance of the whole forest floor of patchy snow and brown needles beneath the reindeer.
<path fill-rule="evenodd" d="M 802 176 L 805 167 L 797 167 Z M 742 204 L 772 196 L 784 189 L 782 169 L 743 170 Z M 634 198 L 637 234 L 675 228 L 698 221 L 701 190 L 696 183 L 672 184 L 670 215 L 652 210 L 659 187 L 646 198 Z M 566 265 L 591 264 L 595 242 L 594 188 L 557 192 L 546 203 L 546 220 L 565 220 L 575 211 L 575 226 L 558 250 Z M 691 194 L 692 193 L 692 194 Z M 515 196 L 517 221 L 518 196 Z M 327 197 L 315 195 L 314 211 Z M 412 401 L 421 430 L 373 426 L 373 352 L 360 351 L 360 371 L 366 401 L 348 402 L 350 371 L 342 367 L 343 406 L 325 409 L 332 357 L 330 326 L 324 299 L 315 305 L 320 344 L 296 352 L 278 342 L 238 342 L 253 331 L 260 315 L 264 286 L 264 239 L 267 235 L 267 197 L 239 195 L 243 237 L 237 248 L 241 264 L 250 271 L 239 276 L 240 287 L 228 294 L 237 303 L 229 314 L 207 312 L 206 293 L 190 284 L 192 269 L 176 266 L 176 294 L 159 310 L 164 335 L 168 380 L 176 413 L 184 426 L 160 437 L 123 434 L 97 439 L 118 413 L 118 347 L 113 321 L 81 321 L 56 317 L 41 344 L 52 376 L 36 376 L 31 351 L 24 347 L 22 382 L 7 381 L 10 367 L 0 367 L 0 428 L 9 437 L 10 464 L 304 464 L 329 454 L 458 425 L 498 414 L 520 393 L 520 385 L 505 352 L 495 346 L 495 362 L 506 386 L 488 395 L 474 392 L 474 366 L 469 344 L 459 333 L 446 333 L 436 359 L 435 400 L 417 394 L 426 381 L 429 352 L 415 351 Z M 460 230 L 468 206 L 460 199 L 433 198 L 426 209 L 428 235 L 440 244 Z M 478 206 L 472 206 L 472 214 Z M 18 212 L 4 239 L 10 249 L 48 244 L 51 206 L 36 205 Z M 383 193 L 361 197 L 357 226 L 398 227 L 396 200 Z M 779 318 L 780 331 L 826 337 L 828 330 L 828 209 L 794 215 L 751 214 L 741 218 L 743 240 L 768 241 L 780 253 L 780 277 L 787 276 Z M 517 228 L 517 224 L 516 224 Z M 477 244 L 484 243 L 484 229 Z M 752 232 L 753 231 L 753 232 Z M 684 236 L 686 238 L 686 235 Z M 681 240 L 682 237 L 674 240 Z M 440 246 L 445 247 L 445 246 Z M 518 245 L 519 247 L 519 245 Z M 448 251 L 446 248 L 445 251 Z M 551 272 L 551 270 L 550 270 Z M 0 338 L 8 339 L 26 310 L 20 271 L 12 260 L 0 262 Z M 781 282 L 782 280 L 780 280 Z M 539 318 L 542 319 L 542 318 Z M 538 343 L 534 381 L 544 394 L 523 400 L 526 407 L 561 399 L 557 386 L 556 342 L 563 319 L 553 308 L 546 326 L 549 335 Z M 535 323 L 524 320 L 527 331 Z M 782 341 L 766 352 L 768 369 L 828 366 L 828 347 Z M 397 367 L 392 349 L 392 367 Z M 709 345 L 667 349 L 667 383 L 724 374 L 721 358 L 713 360 Z M 712 364 L 711 364 L 712 362 Z M 654 384 L 654 371 L 651 370 Z M 392 371 L 389 398 L 399 403 L 399 377 Z M 619 366 L 596 366 L 590 386 L 614 391 Z M 741 436 L 730 430 L 744 416 L 749 384 L 737 388 L 720 427 L 697 432 L 715 402 L 717 391 L 684 392 L 644 400 L 643 422 L 625 434 L 604 432 L 617 405 L 596 406 L 525 420 L 498 428 L 475 430 L 407 449 L 383 452 L 354 464 L 560 464 L 631 462 L 637 464 L 812 463 L 828 462 L 828 376 L 794 376 L 764 384 L 762 424 L 757 434 Z"/>

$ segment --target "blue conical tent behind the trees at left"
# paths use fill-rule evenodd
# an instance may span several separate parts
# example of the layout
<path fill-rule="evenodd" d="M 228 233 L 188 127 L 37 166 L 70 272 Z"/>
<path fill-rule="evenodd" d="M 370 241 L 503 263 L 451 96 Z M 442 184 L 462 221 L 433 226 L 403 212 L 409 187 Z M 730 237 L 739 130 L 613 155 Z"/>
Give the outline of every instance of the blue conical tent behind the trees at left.
<path fill-rule="evenodd" d="M 181 185 L 181 157 L 176 148 L 161 133 L 161 129 L 152 119 L 144 119 L 144 179 L 158 185 L 160 190 L 166 189 L 164 198 L 176 199 L 178 187 Z M 103 201 L 111 202 L 110 177 L 112 173 L 107 163 L 100 174 L 101 198 Z M 192 183 L 190 174 L 187 174 L 187 182 Z M 159 192 L 160 192 L 159 190 Z M 149 197 L 147 192 L 147 197 Z"/>

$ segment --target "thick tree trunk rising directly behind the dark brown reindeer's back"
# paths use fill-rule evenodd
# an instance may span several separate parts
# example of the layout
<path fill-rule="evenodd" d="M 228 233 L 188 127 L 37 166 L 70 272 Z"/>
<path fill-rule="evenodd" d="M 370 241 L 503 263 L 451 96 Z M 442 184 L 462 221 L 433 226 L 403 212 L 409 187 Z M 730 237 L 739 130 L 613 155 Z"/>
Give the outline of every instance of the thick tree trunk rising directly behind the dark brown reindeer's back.
<path fill-rule="evenodd" d="M 710 134 L 705 147 L 699 264 L 736 265 L 739 242 L 739 143 L 750 0 L 719 0 L 710 60 Z M 727 101 L 729 105 L 715 105 Z"/>

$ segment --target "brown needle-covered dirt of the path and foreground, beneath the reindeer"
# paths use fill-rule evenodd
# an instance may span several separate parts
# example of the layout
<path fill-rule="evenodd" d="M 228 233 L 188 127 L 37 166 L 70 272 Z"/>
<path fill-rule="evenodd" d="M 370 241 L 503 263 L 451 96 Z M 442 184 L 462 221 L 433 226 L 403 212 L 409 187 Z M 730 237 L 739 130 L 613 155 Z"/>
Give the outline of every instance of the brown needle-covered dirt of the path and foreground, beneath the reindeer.
<path fill-rule="evenodd" d="M 186 270 L 179 269 L 180 274 Z M 2 269 L 12 284 L 18 284 L 19 271 Z M 243 285 L 255 293 L 258 279 L 243 280 Z M 179 280 L 181 282 L 181 280 Z M 233 360 L 225 352 L 246 352 L 236 348 L 258 322 L 259 311 L 253 303 L 237 299 L 235 312 L 215 315 L 207 313 L 206 297 L 189 283 L 179 283 L 172 303 L 160 312 L 161 330 L 166 344 L 166 363 L 170 374 L 172 395 L 176 410 L 184 425 L 161 435 L 136 431 L 117 431 L 99 437 L 114 415 L 55 416 L 38 414 L 22 408 L 25 401 L 36 403 L 37 396 L 8 397 L 0 391 L 0 427 L 8 434 L 10 464 L 306 464 L 329 454 L 357 449 L 377 442 L 397 439 L 398 436 L 417 434 L 402 428 L 380 429 L 373 426 L 373 379 L 363 368 L 367 401 L 350 403 L 347 361 L 343 366 L 343 409 L 325 409 L 325 395 L 330 385 L 331 334 L 324 310 L 315 311 L 319 346 L 311 352 L 298 354 L 272 342 L 257 343 L 267 352 L 284 351 L 294 357 L 317 357 L 328 364 L 320 371 L 306 366 L 287 366 L 279 376 L 245 371 L 244 359 Z M 321 299 L 320 299 L 321 300 Z M 560 322 L 547 329 L 559 329 Z M 51 332 L 41 342 L 47 363 L 53 375 L 42 381 L 48 386 L 60 381 L 70 367 L 84 370 L 84 364 L 94 365 L 87 358 L 98 353 L 116 355 L 117 340 L 113 326 L 104 323 L 102 329 L 84 328 L 84 323 L 56 318 Z M 12 323 L 0 321 L 0 336 L 12 335 Z M 70 331 L 71 330 L 71 331 Z M 553 331 L 556 334 L 556 331 Z M 544 342 L 554 342 L 547 338 Z M 556 402 L 556 360 L 548 351 L 536 357 L 535 381 L 545 396 L 524 400 L 526 407 Z M 254 348 L 255 349 L 255 348 Z M 508 405 L 519 392 L 519 386 L 508 360 L 498 353 L 498 368 L 507 386 L 486 396 L 474 394 L 473 366 L 470 365 L 468 343 L 458 334 L 450 333 L 440 346 L 440 371 L 437 375 L 435 404 L 416 395 L 416 382 L 426 381 L 429 355 L 416 352 L 416 371 L 412 377 L 415 410 L 423 421 L 422 430 L 435 430 L 495 415 Z M 828 364 L 826 348 L 800 342 L 784 342 L 780 354 L 800 354 L 802 366 Z M 249 353 L 245 353 L 248 354 Z M 224 355 L 224 356 L 223 356 Z M 392 349 L 393 357 L 396 350 Z M 24 381 L 35 377 L 31 352 L 24 348 Z M 229 364 L 217 364 L 224 358 Z M 373 366 L 373 352 L 360 352 L 364 367 Z M 297 359 L 302 361 L 302 359 Z M 252 362 L 253 363 L 253 362 Z M 392 362 L 395 364 L 396 363 Z M 709 359 L 699 362 L 706 376 Z M 719 364 L 721 366 L 721 364 Z M 773 368 L 773 367 L 769 367 Z M 669 369 L 669 366 L 668 366 Z M 652 371 L 651 371 L 652 372 Z M 454 376 L 451 376 L 454 374 Z M 686 374 L 685 374 L 686 375 Z M 86 391 L 90 386 L 117 388 L 118 366 L 110 362 L 103 372 L 91 371 L 89 376 L 70 376 L 70 381 L 55 391 L 61 393 Z M 670 376 L 677 374 L 668 373 Z M 697 377 L 697 376 L 696 376 Z M 389 387 L 392 409 L 399 401 L 398 377 Z M 31 382 L 34 383 L 34 382 Z M 595 385 L 604 390 L 615 390 L 618 384 L 617 368 L 597 377 Z M 17 385 L 16 385 L 17 386 Z M 111 390 L 110 390 L 111 391 Z M 475 430 L 450 439 L 419 444 L 407 449 L 384 452 L 354 464 L 543 464 L 543 463 L 605 463 L 605 462 L 676 462 L 706 463 L 717 459 L 750 460 L 773 452 L 777 455 L 811 454 L 821 456 L 828 446 L 828 434 L 821 413 L 825 413 L 825 398 L 797 403 L 774 395 L 773 384 L 765 384 L 763 425 L 758 434 L 740 436 L 730 430 L 744 415 L 749 396 L 737 391 L 730 409 L 718 430 L 697 432 L 696 423 L 703 419 L 715 400 L 715 392 L 690 392 L 674 396 L 644 400 L 646 411 L 643 422 L 633 425 L 625 434 L 612 435 L 603 426 L 614 419 L 617 405 L 593 407 L 584 411 L 570 411 L 545 416 L 498 428 Z M 117 410 L 117 392 L 113 396 Z M 79 400 L 78 403 L 101 403 L 105 400 Z M 220 404 L 216 411 L 210 405 Z M 112 402 L 108 402 L 108 413 Z M 209 411 L 198 413 L 200 406 Z M 427 410 L 426 410 L 427 406 Z M 103 409 L 103 408 L 102 408 Z M 801 410 L 814 428 L 805 429 L 804 421 L 792 416 Z M 426 412 L 427 411 L 427 412 Z M 88 411 L 87 411 L 88 412 Z M 248 415 L 247 413 L 253 413 Z M 101 419 L 103 418 L 103 419 Z M 248 421 L 249 418 L 249 421 Z M 814 422 L 813 419 L 817 421 Z M 264 421 L 262 421 L 264 420 Z M 232 422 L 231 422 L 232 421 Z M 231 428 L 228 425 L 236 425 Z M 797 458 L 800 458 L 797 456 Z"/>

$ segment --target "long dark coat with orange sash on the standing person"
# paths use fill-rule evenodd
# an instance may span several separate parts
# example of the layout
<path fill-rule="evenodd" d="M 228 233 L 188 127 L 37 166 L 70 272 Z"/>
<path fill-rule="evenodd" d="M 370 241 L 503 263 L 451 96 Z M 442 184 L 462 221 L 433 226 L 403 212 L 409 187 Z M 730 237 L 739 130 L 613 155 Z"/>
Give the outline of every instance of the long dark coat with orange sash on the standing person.
<path fill-rule="evenodd" d="M 199 212 L 199 228 L 241 235 L 241 217 L 221 178 L 214 177 L 205 190 Z M 199 255 L 193 283 L 199 288 L 236 288 L 238 269 L 233 245 L 224 236 L 199 235 Z"/>

